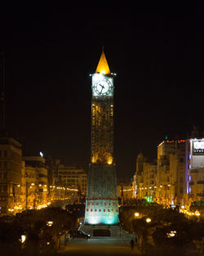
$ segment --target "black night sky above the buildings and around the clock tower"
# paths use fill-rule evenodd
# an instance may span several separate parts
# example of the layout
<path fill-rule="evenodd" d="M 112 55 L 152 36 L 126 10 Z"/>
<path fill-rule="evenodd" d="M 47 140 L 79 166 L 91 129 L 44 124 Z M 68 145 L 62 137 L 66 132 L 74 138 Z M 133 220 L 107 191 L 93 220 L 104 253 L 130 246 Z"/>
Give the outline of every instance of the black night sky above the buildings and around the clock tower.
<path fill-rule="evenodd" d="M 193 124 L 204 130 L 203 2 L 136 2 L 1 7 L 6 124 L 10 136 L 21 138 L 24 154 L 43 151 L 88 167 L 89 74 L 102 46 L 111 72 L 118 74 L 118 176 L 133 175 L 140 150 L 156 157 L 166 134 L 184 138 Z"/>

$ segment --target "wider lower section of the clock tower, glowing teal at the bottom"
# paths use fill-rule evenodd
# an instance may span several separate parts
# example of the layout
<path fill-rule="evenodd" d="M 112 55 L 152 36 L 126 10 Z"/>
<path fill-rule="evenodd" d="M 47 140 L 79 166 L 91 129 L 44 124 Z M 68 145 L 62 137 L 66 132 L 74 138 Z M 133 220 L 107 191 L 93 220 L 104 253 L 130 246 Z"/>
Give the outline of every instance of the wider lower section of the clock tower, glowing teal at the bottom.
<path fill-rule="evenodd" d="M 118 196 L 114 165 L 90 165 L 85 224 L 118 224 Z"/>

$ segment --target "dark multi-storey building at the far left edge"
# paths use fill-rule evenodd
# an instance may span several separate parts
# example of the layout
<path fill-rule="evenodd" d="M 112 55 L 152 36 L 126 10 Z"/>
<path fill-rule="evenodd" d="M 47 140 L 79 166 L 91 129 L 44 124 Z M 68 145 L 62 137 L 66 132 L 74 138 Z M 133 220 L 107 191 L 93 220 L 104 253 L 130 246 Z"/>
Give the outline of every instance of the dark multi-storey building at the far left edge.
<path fill-rule="evenodd" d="M 20 204 L 21 145 L 11 137 L 0 138 L 0 213 L 13 213 Z"/>

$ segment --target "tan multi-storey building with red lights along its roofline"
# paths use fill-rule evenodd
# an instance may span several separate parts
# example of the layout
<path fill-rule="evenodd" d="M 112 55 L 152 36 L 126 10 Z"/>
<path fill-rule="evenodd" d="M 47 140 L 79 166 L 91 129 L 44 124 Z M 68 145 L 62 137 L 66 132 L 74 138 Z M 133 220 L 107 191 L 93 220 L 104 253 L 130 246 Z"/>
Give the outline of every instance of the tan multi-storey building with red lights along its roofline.
<path fill-rule="evenodd" d="M 159 204 L 184 204 L 185 140 L 165 140 L 157 146 L 155 197 Z"/>

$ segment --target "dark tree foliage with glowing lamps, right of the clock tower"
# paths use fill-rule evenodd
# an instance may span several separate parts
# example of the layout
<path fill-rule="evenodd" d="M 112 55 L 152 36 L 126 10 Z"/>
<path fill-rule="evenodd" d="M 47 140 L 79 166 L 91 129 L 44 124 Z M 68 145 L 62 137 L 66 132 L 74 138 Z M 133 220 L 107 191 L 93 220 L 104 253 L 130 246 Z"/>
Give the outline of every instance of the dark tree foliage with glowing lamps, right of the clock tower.
<path fill-rule="evenodd" d="M 135 212 L 140 215 L 135 217 Z M 152 221 L 147 223 L 147 217 Z M 193 250 L 192 255 L 196 255 L 196 246 L 200 248 L 204 238 L 203 221 L 188 219 L 176 209 L 163 209 L 157 204 L 123 208 L 119 218 L 126 231 L 134 232 L 140 237 L 141 251 L 144 253 L 145 250 L 145 254 L 155 250 L 155 254 L 162 255 L 168 249 L 169 252 L 176 250 L 183 253 L 185 250 L 186 254 Z"/>

